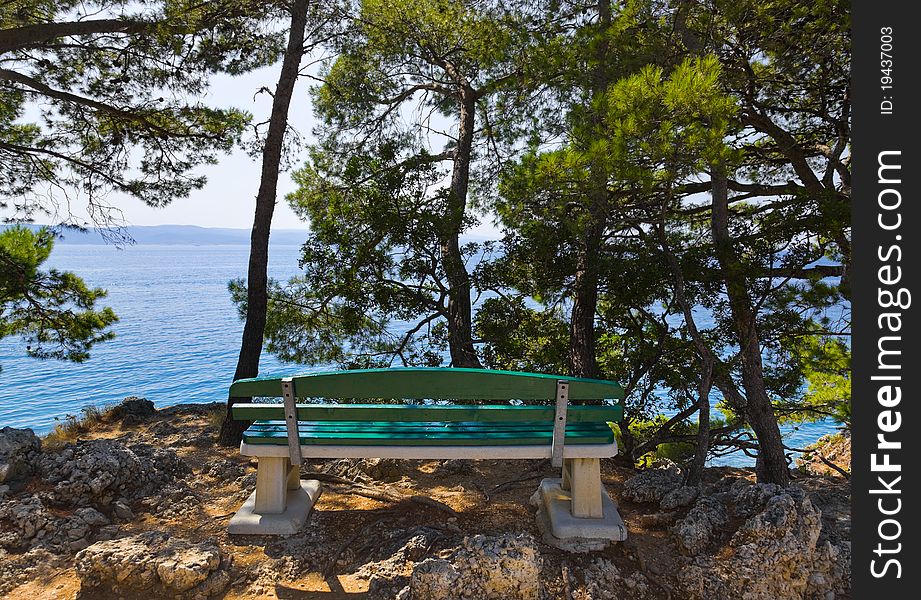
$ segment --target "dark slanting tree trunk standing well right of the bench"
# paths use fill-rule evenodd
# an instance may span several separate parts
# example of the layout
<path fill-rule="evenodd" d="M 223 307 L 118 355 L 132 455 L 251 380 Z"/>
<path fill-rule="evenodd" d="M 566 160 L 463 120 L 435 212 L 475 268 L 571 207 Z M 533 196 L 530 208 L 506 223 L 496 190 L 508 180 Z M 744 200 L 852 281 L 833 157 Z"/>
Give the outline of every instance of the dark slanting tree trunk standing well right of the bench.
<path fill-rule="evenodd" d="M 739 340 L 742 364 L 742 387 L 746 396 L 746 417 L 758 438 L 758 481 L 786 486 L 790 472 L 783 451 L 783 440 L 770 396 L 764 384 L 761 341 L 755 322 L 754 304 L 745 277 L 745 270 L 732 245 L 729 234 L 729 190 L 726 174 L 715 168 L 713 208 L 710 228 L 720 272 L 726 284 L 729 309 Z"/>

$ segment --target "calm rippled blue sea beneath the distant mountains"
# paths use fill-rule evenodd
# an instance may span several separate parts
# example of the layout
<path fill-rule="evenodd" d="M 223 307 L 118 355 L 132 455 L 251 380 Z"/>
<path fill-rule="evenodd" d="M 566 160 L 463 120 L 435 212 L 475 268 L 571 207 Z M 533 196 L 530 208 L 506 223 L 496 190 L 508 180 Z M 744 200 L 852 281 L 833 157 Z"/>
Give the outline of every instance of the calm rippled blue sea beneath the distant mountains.
<path fill-rule="evenodd" d="M 297 246 L 273 246 L 269 275 L 297 270 Z M 246 273 L 246 246 L 58 245 L 50 266 L 75 271 L 119 316 L 116 338 L 98 345 L 83 364 L 24 356 L 17 339 L 0 342 L 0 427 L 49 431 L 55 420 L 88 405 L 142 396 L 157 406 L 227 398 L 243 325 L 227 282 Z M 261 375 L 304 372 L 263 355 Z M 785 428 L 802 447 L 833 432 L 830 422 Z M 751 464 L 736 455 L 715 464 Z"/>

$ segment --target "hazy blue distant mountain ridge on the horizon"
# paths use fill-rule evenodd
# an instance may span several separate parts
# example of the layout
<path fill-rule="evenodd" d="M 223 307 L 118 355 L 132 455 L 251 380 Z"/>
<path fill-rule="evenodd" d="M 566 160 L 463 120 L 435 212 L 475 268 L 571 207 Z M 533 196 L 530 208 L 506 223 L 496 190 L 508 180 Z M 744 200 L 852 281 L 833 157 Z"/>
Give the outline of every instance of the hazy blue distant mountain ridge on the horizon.
<path fill-rule="evenodd" d="M 38 228 L 39 225 L 30 225 Z M 249 229 L 198 227 L 197 225 L 150 225 L 126 227 L 125 232 L 139 245 L 246 246 Z M 272 245 L 300 246 L 307 239 L 307 230 L 273 229 Z M 98 231 L 63 231 L 58 244 L 105 244 Z"/>

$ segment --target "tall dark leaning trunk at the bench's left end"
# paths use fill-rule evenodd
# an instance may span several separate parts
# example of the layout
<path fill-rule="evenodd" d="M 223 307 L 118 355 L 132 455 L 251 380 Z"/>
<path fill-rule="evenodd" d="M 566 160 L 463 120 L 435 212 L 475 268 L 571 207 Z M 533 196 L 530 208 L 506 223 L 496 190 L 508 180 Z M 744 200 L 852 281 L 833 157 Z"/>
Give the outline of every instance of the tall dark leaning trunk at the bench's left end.
<path fill-rule="evenodd" d="M 291 30 L 288 45 L 281 64 L 278 84 L 272 98 L 272 114 L 265 145 L 262 148 L 262 174 L 259 192 L 256 195 L 256 213 L 253 217 L 253 231 L 250 236 L 249 270 L 246 278 L 246 323 L 243 326 L 243 340 L 234 380 L 256 377 L 259 374 L 259 359 L 265 336 L 266 309 L 268 306 L 268 262 L 269 233 L 275 200 L 278 193 L 278 175 L 284 147 L 285 130 L 288 126 L 288 108 L 297 72 L 304 54 L 304 31 L 307 27 L 307 0 L 294 0 L 291 6 Z M 227 414 L 221 424 L 220 442 L 236 445 L 247 427 L 244 421 L 234 421 L 230 409 L 240 398 L 227 399 Z"/>

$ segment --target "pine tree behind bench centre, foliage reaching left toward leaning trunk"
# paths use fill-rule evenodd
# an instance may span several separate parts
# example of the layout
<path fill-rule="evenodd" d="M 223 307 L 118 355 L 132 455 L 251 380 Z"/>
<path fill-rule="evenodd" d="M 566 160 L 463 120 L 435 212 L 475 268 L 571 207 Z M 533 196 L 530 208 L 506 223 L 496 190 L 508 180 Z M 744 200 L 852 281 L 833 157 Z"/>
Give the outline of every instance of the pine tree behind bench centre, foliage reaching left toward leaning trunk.
<path fill-rule="evenodd" d="M 347 3 L 314 90 L 322 125 L 289 201 L 304 276 L 275 289 L 270 347 L 306 362 L 479 366 L 471 173 L 531 43 L 503 3 Z M 492 146 L 495 147 L 495 146 Z M 395 323 L 410 323 L 393 333 Z"/>

